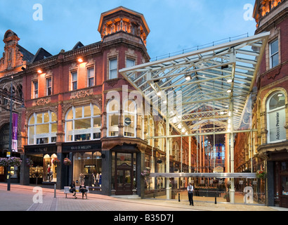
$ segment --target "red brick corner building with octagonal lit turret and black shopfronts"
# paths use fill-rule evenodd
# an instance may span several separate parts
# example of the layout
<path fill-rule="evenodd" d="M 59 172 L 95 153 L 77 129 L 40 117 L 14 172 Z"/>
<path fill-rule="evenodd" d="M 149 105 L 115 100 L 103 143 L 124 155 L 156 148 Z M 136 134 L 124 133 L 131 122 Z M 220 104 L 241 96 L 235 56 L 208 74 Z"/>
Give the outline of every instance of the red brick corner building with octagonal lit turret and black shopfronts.
<path fill-rule="evenodd" d="M 63 188 L 84 179 L 105 195 L 143 195 L 160 182 L 147 184 L 140 173 L 164 172 L 165 141 L 145 136 L 161 134 L 166 124 L 152 112 L 144 115 L 144 103 L 138 105 L 135 90 L 118 72 L 150 60 L 149 27 L 142 14 L 118 7 L 100 15 L 98 32 L 100 41 L 87 46 L 79 41 L 55 56 L 40 48 L 19 72 L 26 107 L 21 184 Z M 188 169 L 188 138 L 183 151 L 180 143 L 171 143 L 171 171 L 179 171 L 181 159 Z M 72 164 L 65 165 L 65 158 Z"/>

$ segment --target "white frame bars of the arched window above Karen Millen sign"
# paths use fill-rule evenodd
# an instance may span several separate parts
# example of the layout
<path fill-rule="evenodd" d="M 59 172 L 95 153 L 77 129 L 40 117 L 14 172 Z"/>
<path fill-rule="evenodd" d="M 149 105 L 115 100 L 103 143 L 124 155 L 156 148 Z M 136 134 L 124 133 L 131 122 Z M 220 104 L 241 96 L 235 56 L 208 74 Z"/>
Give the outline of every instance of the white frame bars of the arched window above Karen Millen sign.
<path fill-rule="evenodd" d="M 90 106 L 90 110 L 91 110 L 91 115 L 89 117 L 85 117 L 84 115 L 84 108 Z M 98 133 L 101 134 L 101 115 L 94 115 L 94 106 L 96 106 L 99 110 L 100 108 L 98 107 L 98 105 L 92 104 L 90 103 L 90 105 L 80 105 L 80 106 L 72 106 L 72 108 L 70 110 L 67 111 L 66 115 L 65 115 L 65 142 L 73 142 L 75 141 L 75 135 L 80 135 L 80 134 L 90 134 L 90 140 L 85 140 L 85 141 L 91 141 L 91 140 L 100 140 L 99 139 L 94 139 L 93 134 L 94 133 Z M 75 109 L 76 108 L 81 108 L 82 112 L 81 112 L 81 117 L 76 118 L 76 112 Z M 67 119 L 68 114 L 70 113 L 70 111 L 72 110 L 72 119 Z M 96 118 L 100 118 L 100 126 L 95 127 L 94 125 L 94 119 Z M 75 129 L 75 121 L 77 120 L 84 120 L 84 119 L 90 119 L 90 125 L 91 127 L 88 129 Z M 67 130 L 67 123 L 68 122 L 72 122 L 72 130 L 68 131 Z M 68 137 L 72 136 L 72 140 L 69 140 Z M 101 136 L 101 135 L 100 135 Z"/>

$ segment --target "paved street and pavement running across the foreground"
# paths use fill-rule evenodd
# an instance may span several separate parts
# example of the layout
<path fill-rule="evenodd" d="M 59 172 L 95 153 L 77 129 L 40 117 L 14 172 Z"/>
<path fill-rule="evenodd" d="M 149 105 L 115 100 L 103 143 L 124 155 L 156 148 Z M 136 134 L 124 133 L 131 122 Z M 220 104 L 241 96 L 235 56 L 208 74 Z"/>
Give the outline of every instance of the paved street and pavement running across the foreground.
<path fill-rule="evenodd" d="M 38 189 L 37 189 L 38 188 Z M 100 194 L 88 194 L 88 199 L 78 195 L 65 195 L 63 190 L 39 188 L 34 186 L 20 186 L 11 184 L 11 191 L 7 191 L 7 184 L 0 183 L 0 211 L 97 211 L 97 212 L 207 212 L 207 211 L 259 211 L 277 212 L 288 211 L 280 207 L 266 207 L 261 205 L 243 205 L 231 203 L 210 203 L 195 201 L 190 206 L 187 200 L 155 200 L 155 199 L 125 199 Z M 114 215 L 112 213 L 112 215 Z M 118 215 L 118 214 L 117 214 Z"/>

